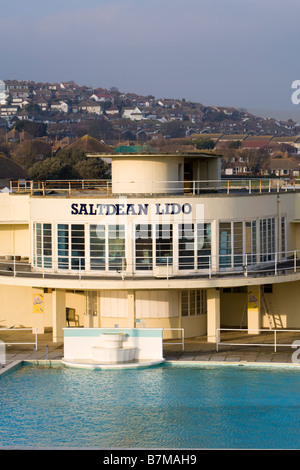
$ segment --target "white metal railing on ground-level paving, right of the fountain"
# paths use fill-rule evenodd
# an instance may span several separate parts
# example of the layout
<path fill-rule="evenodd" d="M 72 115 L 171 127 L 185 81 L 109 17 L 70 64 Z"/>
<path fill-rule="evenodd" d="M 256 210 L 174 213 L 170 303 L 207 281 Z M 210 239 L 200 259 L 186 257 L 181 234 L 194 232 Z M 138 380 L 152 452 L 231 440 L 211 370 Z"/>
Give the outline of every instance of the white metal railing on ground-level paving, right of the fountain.
<path fill-rule="evenodd" d="M 236 341 L 224 341 L 222 342 L 221 341 L 221 333 L 222 332 L 239 332 L 239 335 L 237 336 L 240 336 L 241 333 L 245 332 L 246 334 L 250 334 L 252 333 L 253 335 L 255 335 L 255 338 L 258 338 L 259 337 L 259 334 L 260 333 L 263 333 L 264 335 L 271 335 L 272 338 L 273 338 L 273 341 L 270 341 L 270 342 L 259 342 L 259 341 L 243 341 L 243 342 L 238 342 L 237 340 Z M 282 342 L 279 342 L 278 341 L 278 335 L 279 334 L 290 334 L 290 336 L 294 335 L 294 334 L 297 334 L 297 338 L 294 338 L 292 340 L 292 342 L 288 342 L 288 343 L 282 343 Z M 257 336 L 256 336 L 257 335 Z M 252 336 L 252 339 L 253 339 L 254 336 Z M 294 342 L 297 341 L 297 339 L 300 339 L 300 330 L 286 330 L 286 329 L 243 329 L 243 328 L 217 328 L 217 331 L 216 331 L 216 350 L 219 351 L 219 346 L 261 346 L 261 347 L 273 347 L 274 348 L 274 351 L 277 352 L 277 348 L 278 347 L 295 347 L 294 346 Z"/>

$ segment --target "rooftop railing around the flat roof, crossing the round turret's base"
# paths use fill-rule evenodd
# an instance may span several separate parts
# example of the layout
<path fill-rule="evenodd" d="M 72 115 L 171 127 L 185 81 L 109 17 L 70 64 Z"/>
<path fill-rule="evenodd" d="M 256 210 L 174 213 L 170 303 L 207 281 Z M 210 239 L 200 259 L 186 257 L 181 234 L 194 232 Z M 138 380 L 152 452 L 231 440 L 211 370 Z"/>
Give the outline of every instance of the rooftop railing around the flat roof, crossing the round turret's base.
<path fill-rule="evenodd" d="M 182 181 L 113 181 L 112 180 L 46 180 L 46 181 L 11 181 L 10 190 L 15 193 L 46 196 L 47 194 L 73 193 L 86 191 L 109 196 L 119 194 L 174 194 L 199 195 L 207 192 L 223 194 L 247 193 L 262 194 L 296 191 L 300 189 L 300 180 L 289 178 L 241 178 L 220 180 L 182 180 Z"/>

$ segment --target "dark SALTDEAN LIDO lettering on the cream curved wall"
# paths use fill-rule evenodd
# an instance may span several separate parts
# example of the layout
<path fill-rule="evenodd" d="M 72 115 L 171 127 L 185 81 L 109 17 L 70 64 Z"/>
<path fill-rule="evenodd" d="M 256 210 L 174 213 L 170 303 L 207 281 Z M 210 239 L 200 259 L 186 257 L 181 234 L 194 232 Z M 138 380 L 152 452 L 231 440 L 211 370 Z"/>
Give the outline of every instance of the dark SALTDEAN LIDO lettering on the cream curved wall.
<path fill-rule="evenodd" d="M 198 204 L 197 204 L 198 206 Z M 147 215 L 178 215 L 192 214 L 191 204 L 178 203 L 155 203 L 155 204 L 94 204 L 94 203 L 73 203 L 71 205 L 71 215 L 91 215 L 91 216 L 147 216 Z"/>

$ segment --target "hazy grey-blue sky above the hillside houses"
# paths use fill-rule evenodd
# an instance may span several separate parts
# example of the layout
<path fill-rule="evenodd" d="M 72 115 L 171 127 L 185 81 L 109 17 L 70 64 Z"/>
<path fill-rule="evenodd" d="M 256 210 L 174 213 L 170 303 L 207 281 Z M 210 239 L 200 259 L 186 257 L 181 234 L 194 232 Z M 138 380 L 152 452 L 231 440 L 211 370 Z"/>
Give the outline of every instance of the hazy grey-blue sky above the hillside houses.
<path fill-rule="evenodd" d="M 299 0 L 0 0 L 0 79 L 298 116 Z"/>

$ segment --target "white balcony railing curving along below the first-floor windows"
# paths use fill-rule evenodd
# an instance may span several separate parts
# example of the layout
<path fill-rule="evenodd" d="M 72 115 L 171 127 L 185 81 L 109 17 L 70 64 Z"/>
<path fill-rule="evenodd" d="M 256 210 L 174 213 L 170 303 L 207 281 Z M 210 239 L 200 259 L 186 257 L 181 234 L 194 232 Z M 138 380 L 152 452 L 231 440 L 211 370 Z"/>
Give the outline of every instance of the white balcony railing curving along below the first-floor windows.
<path fill-rule="evenodd" d="M 138 261 L 146 261 L 144 264 Z M 0 276 L 34 278 L 76 279 L 142 279 L 142 278 L 201 278 L 224 279 L 230 277 L 285 276 L 300 272 L 300 251 L 285 251 L 260 254 L 227 254 L 220 256 L 199 255 L 184 258 L 165 258 L 156 264 L 153 258 L 136 259 L 125 257 L 98 259 L 91 264 L 88 258 L 74 256 L 55 259 L 51 256 L 39 258 L 35 265 L 29 259 L 15 255 L 0 255 Z"/>

